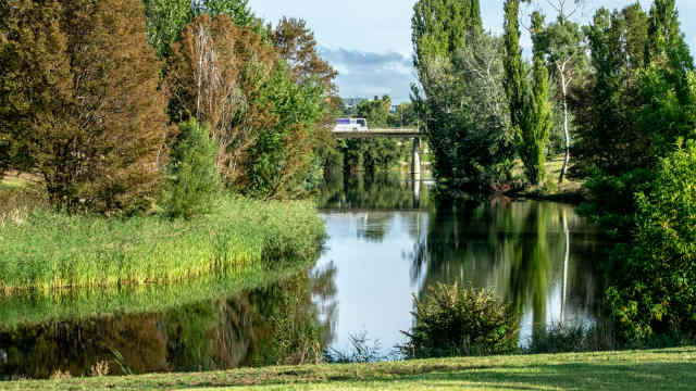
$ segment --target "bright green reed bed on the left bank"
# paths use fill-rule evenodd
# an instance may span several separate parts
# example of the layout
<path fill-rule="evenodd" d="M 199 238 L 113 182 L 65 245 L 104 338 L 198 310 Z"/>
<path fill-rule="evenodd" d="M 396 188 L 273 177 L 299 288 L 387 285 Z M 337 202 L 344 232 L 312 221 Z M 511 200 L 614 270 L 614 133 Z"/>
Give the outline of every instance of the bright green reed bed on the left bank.
<path fill-rule="evenodd" d="M 316 255 L 323 225 L 309 202 L 220 199 L 190 222 L 105 219 L 41 210 L 0 222 L 0 293 L 186 281 Z"/>

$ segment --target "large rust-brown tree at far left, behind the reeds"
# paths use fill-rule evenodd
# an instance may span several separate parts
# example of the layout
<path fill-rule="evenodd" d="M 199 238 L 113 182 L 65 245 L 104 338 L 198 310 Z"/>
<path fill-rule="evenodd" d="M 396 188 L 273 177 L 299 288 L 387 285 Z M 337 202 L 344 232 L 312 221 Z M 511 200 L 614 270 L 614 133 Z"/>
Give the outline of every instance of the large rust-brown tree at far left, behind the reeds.
<path fill-rule="evenodd" d="M 67 211 L 159 193 L 165 97 L 140 0 L 2 2 L 3 127 Z"/>

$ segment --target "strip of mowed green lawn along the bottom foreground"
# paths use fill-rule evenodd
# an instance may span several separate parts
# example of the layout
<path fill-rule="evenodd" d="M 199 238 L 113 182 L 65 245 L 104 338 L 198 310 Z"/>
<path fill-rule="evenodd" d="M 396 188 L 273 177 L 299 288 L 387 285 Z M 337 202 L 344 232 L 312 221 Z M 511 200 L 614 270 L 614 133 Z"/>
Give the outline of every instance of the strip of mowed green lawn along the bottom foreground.
<path fill-rule="evenodd" d="M 696 348 L 0 382 L 3 389 L 696 390 Z"/>

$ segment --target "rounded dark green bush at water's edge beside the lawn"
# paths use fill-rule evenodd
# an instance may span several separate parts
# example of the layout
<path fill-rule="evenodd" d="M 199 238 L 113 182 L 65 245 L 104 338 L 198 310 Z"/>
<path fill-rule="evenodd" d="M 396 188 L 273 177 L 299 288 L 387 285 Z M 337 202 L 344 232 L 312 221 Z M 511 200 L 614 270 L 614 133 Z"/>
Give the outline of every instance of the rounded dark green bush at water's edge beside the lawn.
<path fill-rule="evenodd" d="M 517 346 L 514 312 L 492 290 L 438 283 L 413 302 L 415 326 L 401 346 L 407 357 L 505 354 Z"/>

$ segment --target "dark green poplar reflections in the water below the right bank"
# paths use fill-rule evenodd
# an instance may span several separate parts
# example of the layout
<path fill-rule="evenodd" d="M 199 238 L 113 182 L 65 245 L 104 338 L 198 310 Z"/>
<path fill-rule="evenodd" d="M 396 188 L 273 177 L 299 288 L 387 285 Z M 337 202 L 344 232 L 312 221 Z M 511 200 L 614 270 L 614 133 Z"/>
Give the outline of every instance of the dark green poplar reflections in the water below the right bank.
<path fill-rule="evenodd" d="M 437 281 L 493 288 L 512 303 L 529 338 L 561 321 L 561 312 L 575 325 L 596 313 L 592 261 L 600 250 L 586 227 L 566 204 L 440 202 L 407 257 L 413 280 L 424 281 L 420 297 Z"/>

